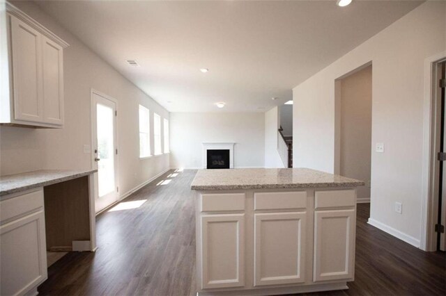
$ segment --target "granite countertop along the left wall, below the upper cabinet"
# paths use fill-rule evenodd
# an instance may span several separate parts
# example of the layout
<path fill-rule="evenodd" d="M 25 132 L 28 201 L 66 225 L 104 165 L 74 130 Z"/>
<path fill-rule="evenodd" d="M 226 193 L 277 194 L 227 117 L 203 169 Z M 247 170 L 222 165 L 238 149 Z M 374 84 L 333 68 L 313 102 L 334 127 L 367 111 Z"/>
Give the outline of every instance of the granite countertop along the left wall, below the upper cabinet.
<path fill-rule="evenodd" d="M 98 170 L 38 170 L 0 176 L 0 196 L 87 176 Z"/>

